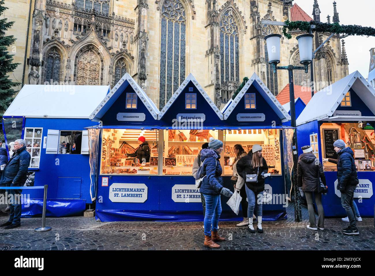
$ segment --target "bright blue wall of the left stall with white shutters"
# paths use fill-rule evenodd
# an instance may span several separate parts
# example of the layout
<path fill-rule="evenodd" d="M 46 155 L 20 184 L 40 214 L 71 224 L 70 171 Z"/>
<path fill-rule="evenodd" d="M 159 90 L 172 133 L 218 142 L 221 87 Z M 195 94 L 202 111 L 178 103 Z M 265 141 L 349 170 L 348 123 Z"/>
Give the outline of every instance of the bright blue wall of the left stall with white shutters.
<path fill-rule="evenodd" d="M 25 127 L 43 128 L 43 137 L 48 129 L 54 130 L 84 130 L 93 125 L 89 119 L 55 119 L 55 118 L 26 118 Z M 42 139 L 43 141 L 43 139 Z M 89 154 L 46 154 L 46 149 L 40 150 L 39 170 L 35 171 L 34 186 L 48 185 L 47 198 L 57 198 L 58 178 L 77 177 L 82 179 L 81 197 L 87 203 L 92 203 L 90 197 L 90 164 Z M 67 193 L 75 193 L 66 191 Z M 28 190 L 31 198 L 43 198 L 43 190 Z"/>

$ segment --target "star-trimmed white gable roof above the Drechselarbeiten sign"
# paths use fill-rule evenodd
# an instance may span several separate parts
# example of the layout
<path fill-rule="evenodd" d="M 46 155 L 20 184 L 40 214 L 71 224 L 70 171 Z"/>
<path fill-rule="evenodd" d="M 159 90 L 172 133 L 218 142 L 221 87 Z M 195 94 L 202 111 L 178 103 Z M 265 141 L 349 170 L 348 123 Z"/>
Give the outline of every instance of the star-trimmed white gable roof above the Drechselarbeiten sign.
<path fill-rule="evenodd" d="M 239 103 L 240 99 L 245 95 L 252 84 L 257 84 L 255 86 L 258 92 L 262 95 L 264 100 L 266 100 L 267 104 L 275 111 L 275 113 L 279 116 L 282 122 L 287 122 L 290 120 L 290 115 L 288 112 L 282 107 L 279 101 L 275 98 L 275 96 L 271 93 L 271 91 L 267 88 L 266 84 L 264 84 L 257 74 L 252 74 L 249 78 L 248 82 L 243 86 L 239 94 L 237 94 L 236 98 L 232 101 L 229 107 L 224 112 L 224 119 L 228 119 L 229 115 L 232 113 L 234 108 Z"/>

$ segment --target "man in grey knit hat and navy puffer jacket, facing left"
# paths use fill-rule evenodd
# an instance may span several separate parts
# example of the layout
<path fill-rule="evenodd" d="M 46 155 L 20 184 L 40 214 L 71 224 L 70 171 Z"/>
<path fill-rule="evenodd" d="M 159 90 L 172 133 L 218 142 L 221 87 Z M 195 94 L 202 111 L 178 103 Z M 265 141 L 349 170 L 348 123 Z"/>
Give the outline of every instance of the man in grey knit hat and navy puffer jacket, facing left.
<path fill-rule="evenodd" d="M 342 232 L 347 235 L 359 235 L 353 199 L 354 190 L 359 183 L 356 164 L 354 163 L 354 152 L 351 148 L 345 147 L 345 142 L 341 139 L 336 140 L 333 146 L 338 159 L 328 158 L 328 161 L 337 164 L 337 189 L 341 192 L 341 205 L 347 212 L 350 223 L 347 228 L 342 229 Z"/>

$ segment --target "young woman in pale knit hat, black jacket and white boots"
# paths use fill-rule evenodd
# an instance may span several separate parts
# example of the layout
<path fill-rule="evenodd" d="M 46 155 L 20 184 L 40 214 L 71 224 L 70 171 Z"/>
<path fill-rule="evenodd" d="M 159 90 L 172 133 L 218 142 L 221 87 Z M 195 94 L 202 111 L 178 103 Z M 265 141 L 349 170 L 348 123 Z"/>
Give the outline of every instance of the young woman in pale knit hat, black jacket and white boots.
<path fill-rule="evenodd" d="M 264 192 L 264 174 L 268 172 L 266 159 L 262 156 L 262 147 L 255 144 L 248 155 L 242 157 L 236 164 L 237 173 L 246 179 L 246 175 L 257 175 L 257 182 L 249 182 L 246 179 L 246 195 L 248 196 L 248 231 L 255 233 L 253 226 L 254 208 L 257 208 L 258 233 L 263 233 L 262 228 L 262 203 Z"/>

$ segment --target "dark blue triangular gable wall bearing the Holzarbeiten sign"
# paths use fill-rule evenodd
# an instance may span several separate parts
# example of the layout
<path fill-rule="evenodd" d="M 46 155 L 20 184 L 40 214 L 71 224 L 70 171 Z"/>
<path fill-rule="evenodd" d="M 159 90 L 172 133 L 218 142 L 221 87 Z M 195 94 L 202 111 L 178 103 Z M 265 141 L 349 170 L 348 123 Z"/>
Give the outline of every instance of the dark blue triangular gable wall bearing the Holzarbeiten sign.
<path fill-rule="evenodd" d="M 121 95 L 115 100 L 110 109 L 103 115 L 101 121 L 103 125 L 120 125 L 120 124 L 132 124 L 144 127 L 147 125 L 158 125 L 159 121 L 155 120 L 151 113 L 148 111 L 144 102 L 137 95 L 137 108 L 131 109 L 126 108 L 126 93 L 135 93 L 132 86 L 128 85 Z M 144 113 L 145 120 L 142 122 L 136 121 L 117 121 L 117 113 Z M 91 124 L 92 125 L 92 124 Z"/>

